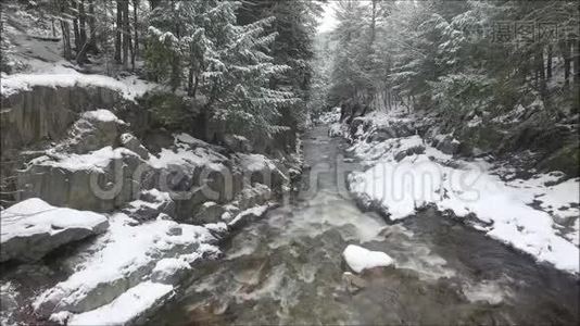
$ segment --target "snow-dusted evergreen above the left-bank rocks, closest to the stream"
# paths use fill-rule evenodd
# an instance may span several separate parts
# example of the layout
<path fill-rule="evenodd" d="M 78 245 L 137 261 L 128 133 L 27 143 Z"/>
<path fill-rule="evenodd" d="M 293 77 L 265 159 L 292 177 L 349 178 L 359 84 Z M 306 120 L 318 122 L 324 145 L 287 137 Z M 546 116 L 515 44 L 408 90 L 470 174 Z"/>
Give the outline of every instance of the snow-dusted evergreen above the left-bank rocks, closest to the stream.
<path fill-rule="evenodd" d="M 235 13 L 234 5 L 227 9 Z M 267 53 L 277 34 L 265 34 L 264 28 L 273 21 L 269 17 L 237 26 L 234 16 L 219 33 L 226 43 L 213 49 L 207 58 L 204 78 L 209 104 L 215 108 L 214 118 L 228 122 L 232 133 L 273 137 L 288 128 L 278 124 L 280 110 L 299 101 L 291 91 L 269 88 L 273 75 L 289 70 L 273 63 Z"/>

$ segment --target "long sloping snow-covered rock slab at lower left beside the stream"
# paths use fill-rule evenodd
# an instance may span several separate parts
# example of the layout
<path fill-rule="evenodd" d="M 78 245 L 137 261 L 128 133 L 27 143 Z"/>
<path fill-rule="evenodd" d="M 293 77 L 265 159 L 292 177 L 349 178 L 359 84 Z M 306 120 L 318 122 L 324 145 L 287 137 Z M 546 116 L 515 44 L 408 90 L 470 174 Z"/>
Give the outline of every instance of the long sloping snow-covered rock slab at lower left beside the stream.
<path fill-rule="evenodd" d="M 220 254 L 215 246 L 218 239 L 213 236 L 219 226 L 210 230 L 163 216 L 136 225 L 121 213 L 111 216 L 110 223 L 106 234 L 66 263 L 75 266 L 74 273 L 35 299 L 33 308 L 38 315 L 48 317 L 63 311 L 81 314 L 110 304 L 150 279 L 154 269 L 160 276 L 166 265 L 159 262 L 164 259 L 191 264 Z"/>

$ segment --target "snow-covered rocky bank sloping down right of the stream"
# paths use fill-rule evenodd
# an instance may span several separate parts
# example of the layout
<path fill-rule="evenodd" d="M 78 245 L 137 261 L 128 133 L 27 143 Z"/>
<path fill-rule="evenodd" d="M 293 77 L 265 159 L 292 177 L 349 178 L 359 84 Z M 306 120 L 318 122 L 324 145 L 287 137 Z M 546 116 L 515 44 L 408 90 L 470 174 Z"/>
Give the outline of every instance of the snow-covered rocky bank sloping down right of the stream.
<path fill-rule="evenodd" d="M 375 125 L 406 123 L 380 113 L 366 118 Z M 360 129 L 349 149 L 368 167 L 350 176 L 351 191 L 362 202 L 380 206 L 391 220 L 429 204 L 459 217 L 475 216 L 481 223 L 474 227 L 489 237 L 579 273 L 580 178 L 552 185 L 562 174 L 551 173 L 504 181 L 483 159 L 453 158 L 417 135 L 367 142 L 371 133 Z"/>

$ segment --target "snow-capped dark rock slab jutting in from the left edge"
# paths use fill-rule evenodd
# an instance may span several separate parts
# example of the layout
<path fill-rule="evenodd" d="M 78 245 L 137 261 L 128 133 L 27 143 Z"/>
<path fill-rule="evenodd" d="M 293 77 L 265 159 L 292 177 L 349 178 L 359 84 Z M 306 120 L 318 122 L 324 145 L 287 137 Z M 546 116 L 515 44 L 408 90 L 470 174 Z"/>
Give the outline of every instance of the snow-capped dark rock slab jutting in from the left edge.
<path fill-rule="evenodd" d="M 0 261 L 35 261 L 62 244 L 98 235 L 104 215 L 56 208 L 30 198 L 1 212 Z"/>

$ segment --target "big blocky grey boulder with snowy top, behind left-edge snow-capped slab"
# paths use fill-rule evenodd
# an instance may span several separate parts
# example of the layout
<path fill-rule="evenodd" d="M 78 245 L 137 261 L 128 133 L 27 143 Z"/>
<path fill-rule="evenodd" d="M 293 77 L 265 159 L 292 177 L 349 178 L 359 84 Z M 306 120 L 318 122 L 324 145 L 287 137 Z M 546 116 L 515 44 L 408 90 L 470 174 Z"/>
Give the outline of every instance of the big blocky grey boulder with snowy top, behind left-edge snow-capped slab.
<path fill-rule="evenodd" d="M 18 171 L 20 200 L 41 198 L 50 204 L 109 212 L 139 193 L 134 174 L 144 162 L 134 152 L 111 147 L 87 154 L 49 153 Z"/>

